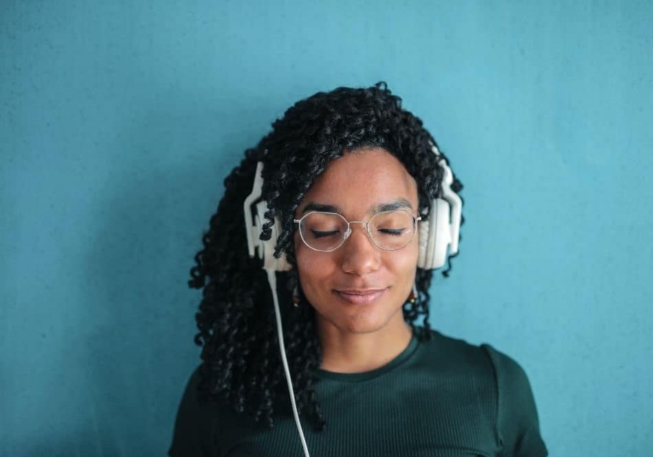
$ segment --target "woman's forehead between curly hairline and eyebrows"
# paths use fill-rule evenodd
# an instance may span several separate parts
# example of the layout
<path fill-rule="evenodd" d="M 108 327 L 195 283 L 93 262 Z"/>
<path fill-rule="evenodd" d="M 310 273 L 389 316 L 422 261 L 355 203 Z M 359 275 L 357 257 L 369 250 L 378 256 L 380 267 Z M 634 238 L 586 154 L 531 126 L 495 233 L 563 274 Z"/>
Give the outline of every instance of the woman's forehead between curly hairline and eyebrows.
<path fill-rule="evenodd" d="M 309 203 L 318 203 L 340 207 L 344 216 L 358 216 L 397 199 L 409 201 L 417 211 L 417 183 L 397 157 L 381 148 L 366 148 L 332 160 L 298 212 Z"/>

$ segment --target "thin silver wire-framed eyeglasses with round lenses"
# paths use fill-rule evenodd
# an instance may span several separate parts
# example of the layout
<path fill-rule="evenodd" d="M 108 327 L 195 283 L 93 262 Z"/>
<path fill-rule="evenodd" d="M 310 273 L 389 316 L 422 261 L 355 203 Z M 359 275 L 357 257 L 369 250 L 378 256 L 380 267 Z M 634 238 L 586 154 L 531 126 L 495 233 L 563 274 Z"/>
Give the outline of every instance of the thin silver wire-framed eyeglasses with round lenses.
<path fill-rule="evenodd" d="M 370 240 L 381 249 L 397 251 L 412 241 L 420 219 L 406 210 L 377 212 L 367 222 L 347 221 L 337 212 L 311 211 L 294 222 L 305 245 L 316 251 L 331 252 L 342 246 L 354 223 L 365 225 Z"/>

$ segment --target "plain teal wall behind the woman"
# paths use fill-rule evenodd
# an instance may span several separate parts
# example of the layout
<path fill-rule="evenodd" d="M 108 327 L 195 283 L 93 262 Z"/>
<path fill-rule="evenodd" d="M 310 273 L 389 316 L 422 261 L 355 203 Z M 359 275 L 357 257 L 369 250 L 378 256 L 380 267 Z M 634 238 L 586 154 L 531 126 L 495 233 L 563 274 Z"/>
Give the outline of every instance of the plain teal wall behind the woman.
<path fill-rule="evenodd" d="M 378 80 L 465 183 L 434 326 L 520 361 L 552 455 L 652 455 L 650 2 L 90 3 L 0 6 L 2 456 L 163 455 L 223 178 Z"/>

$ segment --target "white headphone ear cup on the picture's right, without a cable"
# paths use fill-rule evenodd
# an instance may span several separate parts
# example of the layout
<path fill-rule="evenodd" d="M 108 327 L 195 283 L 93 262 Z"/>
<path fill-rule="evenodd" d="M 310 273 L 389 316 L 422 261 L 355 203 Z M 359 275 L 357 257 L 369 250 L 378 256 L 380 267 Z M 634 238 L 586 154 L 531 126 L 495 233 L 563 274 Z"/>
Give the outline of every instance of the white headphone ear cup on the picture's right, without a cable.
<path fill-rule="evenodd" d="M 431 201 L 428 219 L 419 221 L 417 266 L 423 269 L 443 267 L 447 260 L 447 247 L 450 243 L 449 203 L 443 199 L 434 199 Z"/>

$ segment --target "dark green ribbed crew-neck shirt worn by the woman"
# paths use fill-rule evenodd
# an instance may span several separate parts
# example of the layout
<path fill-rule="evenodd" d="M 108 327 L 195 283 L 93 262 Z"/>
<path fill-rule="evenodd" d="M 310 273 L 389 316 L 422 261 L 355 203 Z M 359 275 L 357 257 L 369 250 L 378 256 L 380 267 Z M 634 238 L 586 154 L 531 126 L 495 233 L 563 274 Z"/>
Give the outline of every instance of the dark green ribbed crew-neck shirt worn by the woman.
<path fill-rule="evenodd" d="M 432 332 L 386 366 L 342 374 L 318 370 L 327 429 L 302 421 L 311 457 L 543 457 L 529 381 L 516 361 L 487 344 Z M 290 414 L 267 430 L 228 408 L 197 402 L 198 370 L 181 399 L 171 457 L 302 457 Z"/>

